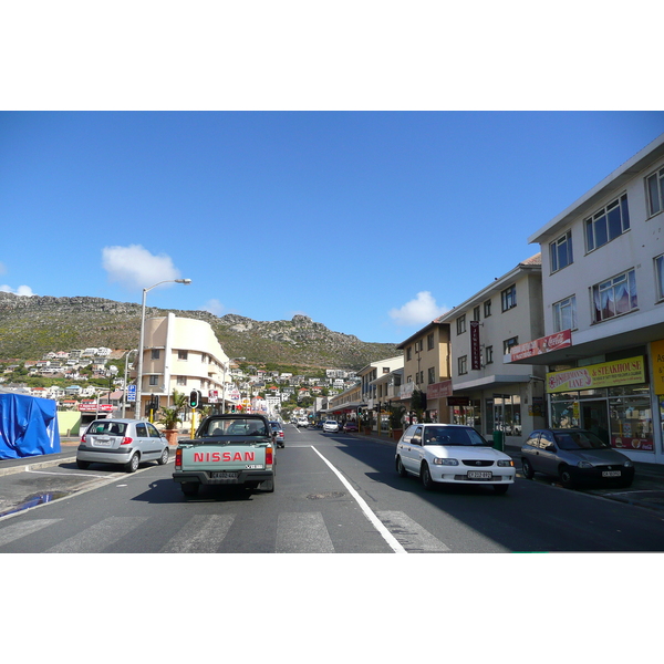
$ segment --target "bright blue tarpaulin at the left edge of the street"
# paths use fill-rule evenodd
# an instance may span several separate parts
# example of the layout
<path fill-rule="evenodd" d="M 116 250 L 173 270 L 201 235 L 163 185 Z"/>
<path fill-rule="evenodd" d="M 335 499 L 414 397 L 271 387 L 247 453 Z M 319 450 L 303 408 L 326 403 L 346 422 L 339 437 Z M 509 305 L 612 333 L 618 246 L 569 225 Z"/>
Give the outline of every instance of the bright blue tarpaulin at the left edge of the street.
<path fill-rule="evenodd" d="M 0 394 L 0 459 L 60 452 L 56 404 L 50 398 Z"/>

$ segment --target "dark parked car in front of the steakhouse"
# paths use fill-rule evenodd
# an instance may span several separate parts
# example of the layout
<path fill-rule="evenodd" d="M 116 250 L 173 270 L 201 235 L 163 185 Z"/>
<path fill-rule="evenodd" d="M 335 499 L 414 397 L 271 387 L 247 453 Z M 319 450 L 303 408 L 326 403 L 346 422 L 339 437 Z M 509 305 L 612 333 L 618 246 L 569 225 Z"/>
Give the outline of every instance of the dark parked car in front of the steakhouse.
<path fill-rule="evenodd" d="M 567 488 L 599 481 L 629 487 L 634 480 L 634 464 L 624 454 L 580 428 L 532 432 L 521 447 L 521 467 L 527 479 L 541 473 Z"/>

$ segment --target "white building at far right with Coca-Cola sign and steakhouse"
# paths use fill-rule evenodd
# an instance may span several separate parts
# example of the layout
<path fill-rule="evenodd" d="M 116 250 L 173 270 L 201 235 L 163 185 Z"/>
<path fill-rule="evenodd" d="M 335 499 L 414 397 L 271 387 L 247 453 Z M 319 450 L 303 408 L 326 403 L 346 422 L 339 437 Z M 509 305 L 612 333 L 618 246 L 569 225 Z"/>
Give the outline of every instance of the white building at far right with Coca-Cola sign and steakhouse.
<path fill-rule="evenodd" d="M 595 430 L 664 463 L 664 134 L 529 241 L 542 253 L 543 336 L 509 364 L 547 371 L 551 426 Z"/>

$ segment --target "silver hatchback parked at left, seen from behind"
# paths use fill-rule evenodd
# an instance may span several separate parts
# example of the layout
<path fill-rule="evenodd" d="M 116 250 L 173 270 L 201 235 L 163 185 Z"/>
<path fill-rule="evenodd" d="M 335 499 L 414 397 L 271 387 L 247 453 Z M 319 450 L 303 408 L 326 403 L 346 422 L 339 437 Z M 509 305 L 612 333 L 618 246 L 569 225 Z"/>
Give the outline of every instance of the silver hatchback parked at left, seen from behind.
<path fill-rule="evenodd" d="M 141 419 L 95 419 L 81 436 L 76 466 L 117 464 L 135 473 L 144 461 L 168 463 L 168 442 L 149 422 Z"/>

